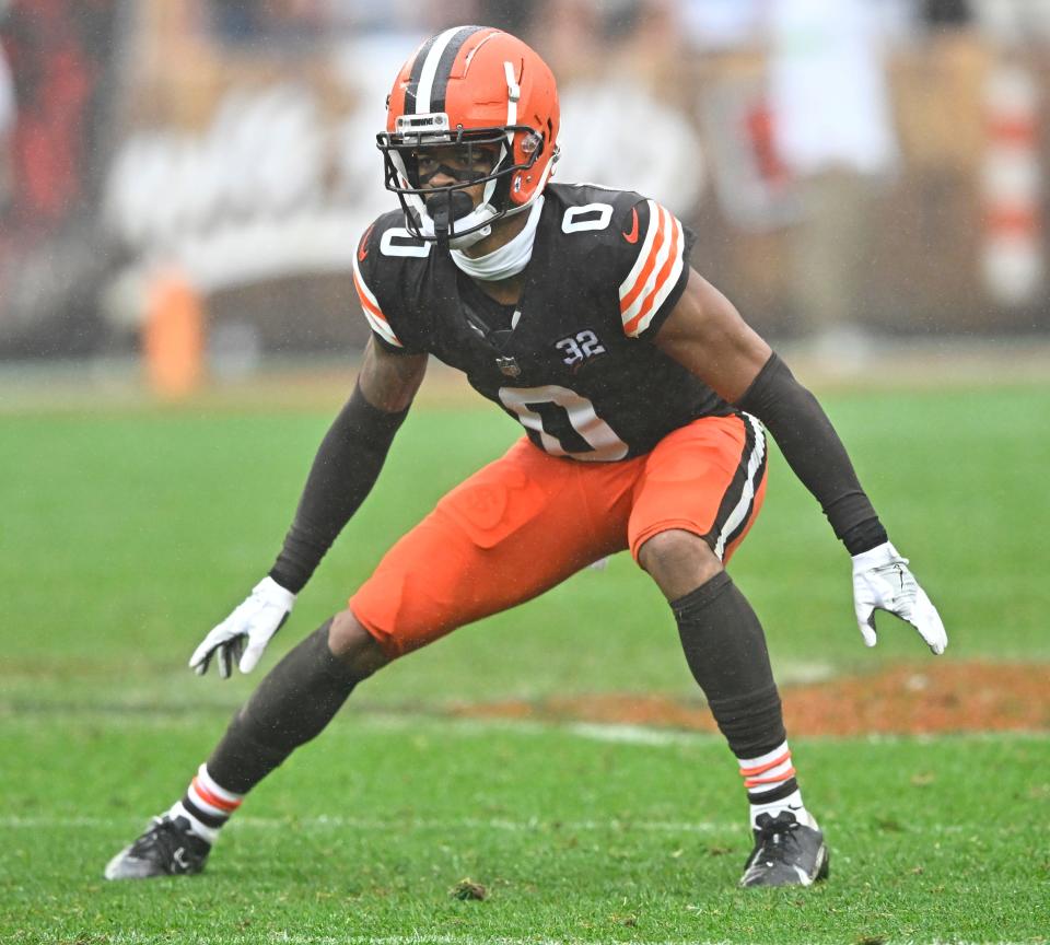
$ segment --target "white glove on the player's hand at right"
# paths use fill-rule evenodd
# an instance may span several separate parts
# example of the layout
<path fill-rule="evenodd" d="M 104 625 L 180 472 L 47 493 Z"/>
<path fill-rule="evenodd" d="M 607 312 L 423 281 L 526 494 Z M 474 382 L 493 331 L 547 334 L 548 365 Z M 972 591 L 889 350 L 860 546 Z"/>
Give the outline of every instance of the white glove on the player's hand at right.
<path fill-rule="evenodd" d="M 866 646 L 875 645 L 876 609 L 911 623 L 935 654 L 948 645 L 937 608 L 908 570 L 908 559 L 889 541 L 853 556 L 853 609 Z"/>

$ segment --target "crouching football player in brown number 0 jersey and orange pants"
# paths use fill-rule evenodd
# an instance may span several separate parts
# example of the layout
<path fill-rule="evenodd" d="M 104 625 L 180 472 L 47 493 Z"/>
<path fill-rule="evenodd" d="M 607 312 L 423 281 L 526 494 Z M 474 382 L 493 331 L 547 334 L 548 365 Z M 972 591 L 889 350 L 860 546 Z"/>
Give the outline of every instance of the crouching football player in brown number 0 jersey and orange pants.
<path fill-rule="evenodd" d="M 244 796 L 316 736 L 361 680 L 439 637 L 629 549 L 677 621 L 738 760 L 754 850 L 744 886 L 806 886 L 828 849 L 792 763 L 762 628 L 725 571 L 762 504 L 775 438 L 853 559 L 856 619 L 882 608 L 934 653 L 944 627 L 889 542 L 824 411 L 690 267 L 657 201 L 552 184 L 555 79 L 533 49 L 462 26 L 401 68 L 377 136 L 400 203 L 362 236 L 372 328 L 277 562 L 190 658 L 250 672 L 364 500 L 430 355 L 524 427 L 445 495 L 336 614 L 262 679 L 185 795 L 107 865 L 110 879 L 197 873 Z M 596 129 L 599 132 L 599 129 Z"/>

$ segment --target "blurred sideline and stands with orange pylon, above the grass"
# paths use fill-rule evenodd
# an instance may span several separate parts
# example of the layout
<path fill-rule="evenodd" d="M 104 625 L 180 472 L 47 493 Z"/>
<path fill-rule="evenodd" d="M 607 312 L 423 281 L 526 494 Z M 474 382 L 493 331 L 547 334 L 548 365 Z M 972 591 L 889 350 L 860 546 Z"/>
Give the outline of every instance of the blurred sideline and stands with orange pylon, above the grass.
<path fill-rule="evenodd" d="M 385 95 L 468 22 L 559 77 L 558 179 L 665 202 L 774 342 L 1045 350 L 1045 0 L 0 0 L 0 372 L 352 359 Z"/>

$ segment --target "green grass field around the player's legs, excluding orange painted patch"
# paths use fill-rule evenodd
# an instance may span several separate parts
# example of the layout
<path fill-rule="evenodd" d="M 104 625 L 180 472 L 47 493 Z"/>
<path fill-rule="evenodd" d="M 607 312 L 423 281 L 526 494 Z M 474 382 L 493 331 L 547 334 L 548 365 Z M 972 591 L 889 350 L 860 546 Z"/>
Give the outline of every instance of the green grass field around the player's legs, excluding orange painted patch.
<path fill-rule="evenodd" d="M 943 658 L 1050 666 L 1050 388 L 824 399 L 941 608 Z M 103 882 L 254 685 L 185 663 L 269 568 L 336 406 L 0 417 L 0 942 L 1050 941 L 1046 732 L 793 739 L 831 879 L 755 895 L 734 888 L 749 841 L 720 740 L 442 716 L 693 698 L 666 605 L 623 555 L 362 686 L 202 877 Z M 265 666 L 516 435 L 491 408 L 415 411 Z M 782 682 L 932 661 L 900 623 L 862 646 L 849 559 L 775 454 L 733 573 Z M 466 877 L 483 901 L 451 895 Z"/>

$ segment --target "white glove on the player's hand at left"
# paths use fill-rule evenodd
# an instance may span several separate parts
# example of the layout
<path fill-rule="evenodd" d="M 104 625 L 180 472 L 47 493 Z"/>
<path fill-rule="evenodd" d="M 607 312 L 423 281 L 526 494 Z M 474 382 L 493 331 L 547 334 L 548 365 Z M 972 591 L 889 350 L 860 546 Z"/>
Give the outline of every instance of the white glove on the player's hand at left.
<path fill-rule="evenodd" d="M 223 679 L 230 678 L 234 660 L 242 673 L 250 673 L 266 644 L 292 612 L 294 603 L 291 591 L 285 591 L 272 578 L 264 578 L 252 588 L 252 596 L 201 641 L 189 657 L 190 668 L 203 676 L 211 657 L 218 655 L 219 675 Z"/>

